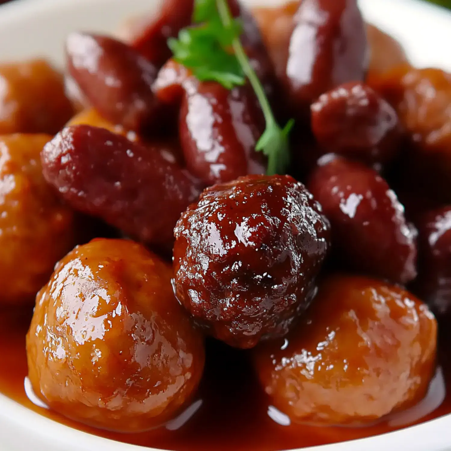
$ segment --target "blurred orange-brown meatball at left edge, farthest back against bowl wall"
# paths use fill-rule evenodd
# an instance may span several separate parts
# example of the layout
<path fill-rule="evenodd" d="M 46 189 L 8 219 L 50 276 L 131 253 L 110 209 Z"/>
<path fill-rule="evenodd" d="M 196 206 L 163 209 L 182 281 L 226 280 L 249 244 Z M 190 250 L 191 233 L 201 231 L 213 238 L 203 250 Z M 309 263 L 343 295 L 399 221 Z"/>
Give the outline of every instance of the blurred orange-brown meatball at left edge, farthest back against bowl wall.
<path fill-rule="evenodd" d="M 0 64 L 0 134 L 55 134 L 73 114 L 63 76 L 44 60 Z"/>

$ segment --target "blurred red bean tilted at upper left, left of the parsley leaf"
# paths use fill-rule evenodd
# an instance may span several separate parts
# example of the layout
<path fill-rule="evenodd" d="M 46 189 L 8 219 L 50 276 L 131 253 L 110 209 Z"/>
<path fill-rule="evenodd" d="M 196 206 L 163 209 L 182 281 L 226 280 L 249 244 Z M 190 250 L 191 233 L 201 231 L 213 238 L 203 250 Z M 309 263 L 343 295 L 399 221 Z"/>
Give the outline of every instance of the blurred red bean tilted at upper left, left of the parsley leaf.
<path fill-rule="evenodd" d="M 110 37 L 72 33 L 66 52 L 69 74 L 106 119 L 141 131 L 159 118 L 157 69 L 137 51 Z"/>

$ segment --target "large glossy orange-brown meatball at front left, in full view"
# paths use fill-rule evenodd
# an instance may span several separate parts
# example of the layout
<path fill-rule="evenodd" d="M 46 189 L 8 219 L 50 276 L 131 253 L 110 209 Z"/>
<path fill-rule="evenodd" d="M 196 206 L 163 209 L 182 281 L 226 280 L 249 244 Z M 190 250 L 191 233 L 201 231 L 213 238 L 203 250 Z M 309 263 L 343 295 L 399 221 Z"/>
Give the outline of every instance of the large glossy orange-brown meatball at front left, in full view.
<path fill-rule="evenodd" d="M 140 244 L 96 239 L 56 266 L 27 335 L 32 387 L 55 411 L 120 432 L 165 423 L 193 396 L 204 345 Z"/>

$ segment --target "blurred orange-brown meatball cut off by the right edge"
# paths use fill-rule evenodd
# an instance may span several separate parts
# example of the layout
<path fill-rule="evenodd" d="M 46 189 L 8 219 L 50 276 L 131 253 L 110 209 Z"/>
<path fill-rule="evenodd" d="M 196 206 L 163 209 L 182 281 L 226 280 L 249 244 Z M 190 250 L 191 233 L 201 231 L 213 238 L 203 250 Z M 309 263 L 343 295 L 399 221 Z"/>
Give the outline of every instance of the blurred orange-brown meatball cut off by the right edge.
<path fill-rule="evenodd" d="M 451 202 L 451 74 L 402 65 L 373 85 L 395 107 L 409 134 L 402 168 L 408 189 Z"/>

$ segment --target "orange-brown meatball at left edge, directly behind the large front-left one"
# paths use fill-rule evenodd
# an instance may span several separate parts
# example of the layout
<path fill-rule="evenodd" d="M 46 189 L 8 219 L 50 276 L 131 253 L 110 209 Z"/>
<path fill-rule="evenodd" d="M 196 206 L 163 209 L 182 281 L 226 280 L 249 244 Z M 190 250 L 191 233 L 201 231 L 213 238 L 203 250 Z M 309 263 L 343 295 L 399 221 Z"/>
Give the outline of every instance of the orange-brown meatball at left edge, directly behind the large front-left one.
<path fill-rule="evenodd" d="M 0 137 L 0 305 L 32 303 L 74 247 L 74 214 L 42 176 L 46 134 Z"/>

